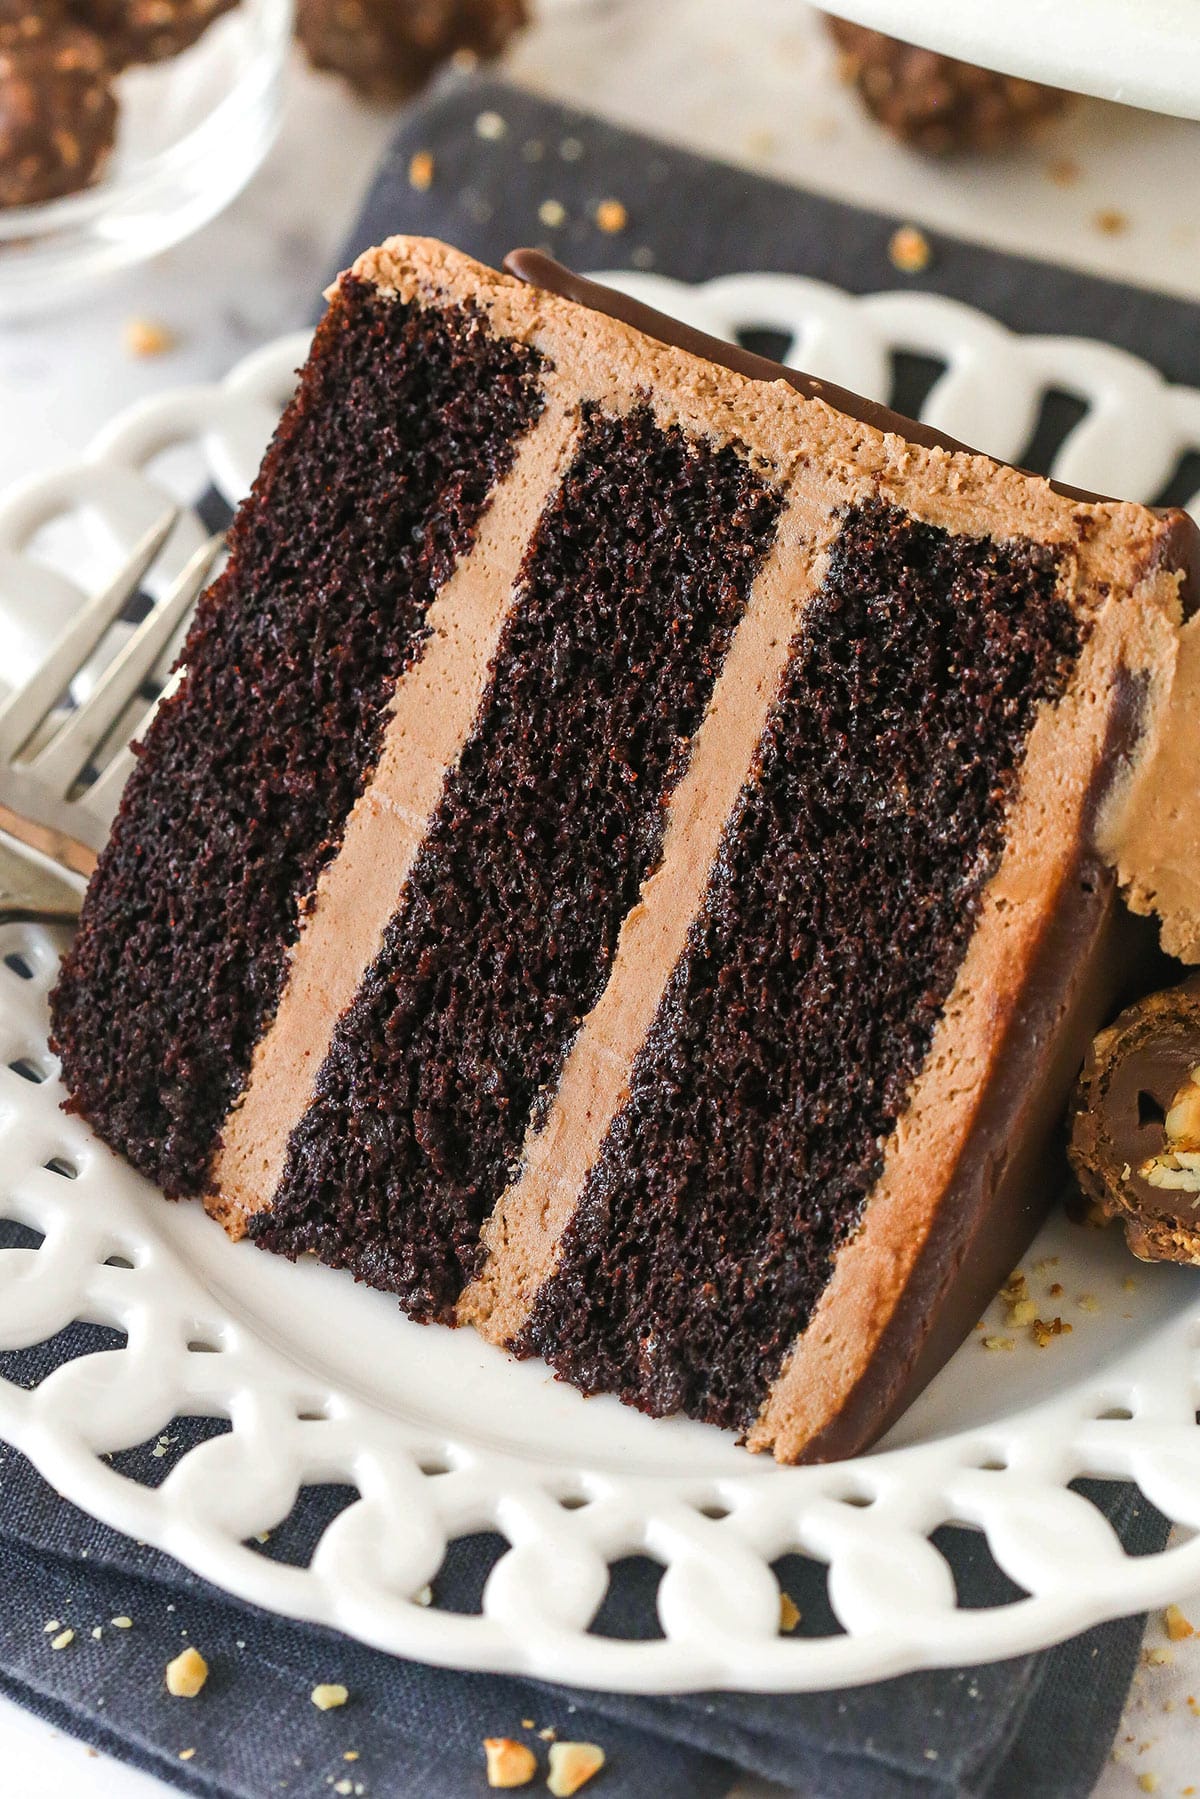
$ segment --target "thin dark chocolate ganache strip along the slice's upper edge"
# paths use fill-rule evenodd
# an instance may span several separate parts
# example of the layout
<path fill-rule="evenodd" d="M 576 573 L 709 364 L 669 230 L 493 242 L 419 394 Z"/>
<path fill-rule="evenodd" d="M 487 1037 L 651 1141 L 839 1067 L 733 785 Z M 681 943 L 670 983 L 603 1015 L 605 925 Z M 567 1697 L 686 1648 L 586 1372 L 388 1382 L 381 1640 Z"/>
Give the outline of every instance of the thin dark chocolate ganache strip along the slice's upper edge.
<path fill-rule="evenodd" d="M 855 394 L 849 387 L 838 387 L 837 381 L 822 381 L 819 376 L 804 374 L 801 369 L 788 369 L 784 363 L 772 362 L 768 356 L 757 356 L 739 344 L 729 344 L 725 338 L 709 336 L 707 331 L 696 331 L 694 326 L 687 326 L 680 318 L 671 318 L 669 313 L 660 313 L 653 306 L 644 306 L 642 300 L 633 300 L 626 293 L 617 293 L 615 288 L 606 288 L 599 281 L 576 275 L 543 250 L 509 250 L 504 257 L 504 268 L 516 281 L 524 281 L 531 288 L 543 288 L 547 293 L 560 295 L 560 299 L 574 300 L 576 306 L 588 306 L 594 313 L 617 318 L 621 324 L 630 326 L 633 331 L 642 331 L 658 344 L 667 344 L 673 349 L 685 351 L 689 356 L 714 362 L 721 369 L 732 369 L 736 374 L 745 374 L 750 381 L 786 381 L 804 399 L 824 399 L 828 407 L 835 407 L 851 419 L 862 419 L 864 425 L 871 425 L 876 432 L 892 432 L 907 443 L 921 444 L 925 450 L 952 450 L 964 455 L 982 453 L 972 450 L 970 444 L 961 443 L 957 437 L 950 437 L 946 432 L 934 430 L 932 425 L 923 425 L 919 419 L 907 419 L 901 412 L 892 412 L 891 407 L 883 407 L 876 399 Z M 1058 480 L 1051 480 L 1051 488 L 1067 500 L 1083 500 L 1088 506 L 1108 498 L 1101 493 L 1088 493 L 1085 488 L 1069 488 Z M 1180 570 L 1180 601 L 1184 615 L 1191 617 L 1200 603 L 1200 527 L 1180 507 L 1162 507 L 1157 511 L 1166 527 L 1157 545 L 1157 565 Z"/>

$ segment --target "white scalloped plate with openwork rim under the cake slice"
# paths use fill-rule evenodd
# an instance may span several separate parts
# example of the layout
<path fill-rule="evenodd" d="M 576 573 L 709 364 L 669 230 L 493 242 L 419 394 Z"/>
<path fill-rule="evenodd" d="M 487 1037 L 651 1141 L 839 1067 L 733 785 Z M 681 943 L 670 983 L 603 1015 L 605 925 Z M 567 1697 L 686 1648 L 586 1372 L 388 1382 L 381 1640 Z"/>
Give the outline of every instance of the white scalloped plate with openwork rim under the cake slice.
<path fill-rule="evenodd" d="M 937 356 L 946 372 L 925 417 L 1009 459 L 1045 390 L 1065 389 L 1087 410 L 1054 468 L 1079 486 L 1153 498 L 1200 450 L 1198 392 L 1103 345 L 1015 338 L 948 300 L 855 300 L 790 277 L 696 290 L 606 279 L 721 335 L 783 331 L 790 360 L 878 398 L 896 351 Z M 304 347 L 288 338 L 221 387 L 135 408 L 81 464 L 0 500 L 5 669 L 23 678 L 79 604 L 61 565 L 86 567 L 83 586 L 99 581 L 162 507 L 166 480 L 245 493 Z M 164 579 L 201 529 L 185 518 Z M 1114 1236 L 1054 1222 L 1025 1270 L 1043 1315 L 1061 1313 L 1070 1335 L 1038 1351 L 997 1313 L 988 1335 L 1015 1347 L 986 1351 L 973 1337 L 874 1454 L 775 1468 L 716 1430 L 585 1401 L 540 1364 L 509 1362 L 470 1331 L 421 1329 L 345 1275 L 232 1245 L 198 1207 L 166 1205 L 59 1110 L 45 1042 L 56 957 L 49 932 L 0 932 L 0 1216 L 43 1234 L 36 1249 L 0 1250 L 0 1349 L 72 1320 L 128 1342 L 34 1389 L 0 1380 L 0 1434 L 77 1506 L 230 1592 L 419 1660 L 651 1693 L 801 1691 L 990 1660 L 1200 1585 L 1191 1270 L 1142 1268 Z M 232 1428 L 178 1454 L 158 1488 L 104 1459 L 176 1416 Z M 1182 1540 L 1126 1556 L 1070 1490 L 1079 1475 L 1137 1481 Z M 308 1567 L 264 1558 L 255 1535 L 306 1484 L 360 1497 Z M 946 1522 L 984 1531 L 1025 1598 L 961 1608 L 928 1542 Z M 480 1529 L 511 1545 L 482 1612 L 416 1603 L 446 1545 Z M 590 1635 L 608 1567 L 639 1551 L 664 1565 L 664 1635 Z M 788 1551 L 828 1563 L 842 1633 L 779 1635 L 770 1563 Z"/>

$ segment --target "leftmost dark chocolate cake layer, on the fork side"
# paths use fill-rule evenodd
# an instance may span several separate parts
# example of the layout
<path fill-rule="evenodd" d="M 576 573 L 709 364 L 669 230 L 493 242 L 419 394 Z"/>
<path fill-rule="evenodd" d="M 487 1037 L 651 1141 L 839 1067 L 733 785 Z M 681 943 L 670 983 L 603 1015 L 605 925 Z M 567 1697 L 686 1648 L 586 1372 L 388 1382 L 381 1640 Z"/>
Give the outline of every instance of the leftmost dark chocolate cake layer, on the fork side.
<path fill-rule="evenodd" d="M 167 1193 L 203 1184 L 389 694 L 538 416 L 538 360 L 466 306 L 353 281 L 318 331 L 52 1002 L 72 1103 Z"/>

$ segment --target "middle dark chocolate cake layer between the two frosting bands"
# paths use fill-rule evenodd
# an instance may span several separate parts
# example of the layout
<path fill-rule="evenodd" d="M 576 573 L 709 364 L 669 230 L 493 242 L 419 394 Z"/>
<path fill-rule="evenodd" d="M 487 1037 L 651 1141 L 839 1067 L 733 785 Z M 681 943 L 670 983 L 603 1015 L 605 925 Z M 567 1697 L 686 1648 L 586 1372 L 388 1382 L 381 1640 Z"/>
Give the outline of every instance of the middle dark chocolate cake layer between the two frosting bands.
<path fill-rule="evenodd" d="M 477 729 L 250 1234 L 450 1317 L 658 860 L 779 500 L 732 448 L 585 405 Z"/>

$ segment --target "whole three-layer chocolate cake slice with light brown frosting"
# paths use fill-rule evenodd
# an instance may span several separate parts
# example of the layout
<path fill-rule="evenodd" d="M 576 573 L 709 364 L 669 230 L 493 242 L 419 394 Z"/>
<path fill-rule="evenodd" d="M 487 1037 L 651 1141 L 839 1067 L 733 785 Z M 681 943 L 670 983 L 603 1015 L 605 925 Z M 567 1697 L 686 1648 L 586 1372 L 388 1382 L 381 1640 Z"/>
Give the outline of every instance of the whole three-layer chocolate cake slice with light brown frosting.
<path fill-rule="evenodd" d="M 1195 531 L 513 268 L 333 293 L 54 995 L 72 1105 L 412 1317 L 851 1454 L 1054 1191 L 1117 878 L 1200 959 L 1135 829 Z"/>

